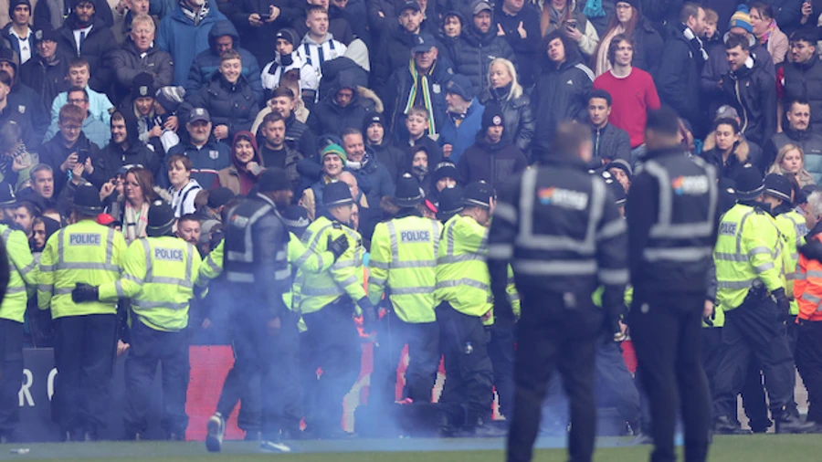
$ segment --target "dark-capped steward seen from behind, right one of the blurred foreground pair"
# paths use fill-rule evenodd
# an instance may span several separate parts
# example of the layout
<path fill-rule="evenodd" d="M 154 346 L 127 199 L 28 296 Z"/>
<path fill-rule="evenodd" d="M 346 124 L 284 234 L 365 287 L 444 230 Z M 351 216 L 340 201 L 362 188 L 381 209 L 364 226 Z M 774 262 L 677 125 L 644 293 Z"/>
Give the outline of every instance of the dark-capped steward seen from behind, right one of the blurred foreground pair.
<path fill-rule="evenodd" d="M 685 450 L 689 460 L 705 460 L 709 392 L 699 351 L 708 293 L 705 275 L 716 236 L 716 173 L 701 159 L 686 155 L 676 112 L 670 108 L 650 113 L 645 132 L 648 152 L 627 198 L 634 288 L 628 326 L 650 398 L 655 444 L 651 459 L 676 460 L 679 390 Z"/>

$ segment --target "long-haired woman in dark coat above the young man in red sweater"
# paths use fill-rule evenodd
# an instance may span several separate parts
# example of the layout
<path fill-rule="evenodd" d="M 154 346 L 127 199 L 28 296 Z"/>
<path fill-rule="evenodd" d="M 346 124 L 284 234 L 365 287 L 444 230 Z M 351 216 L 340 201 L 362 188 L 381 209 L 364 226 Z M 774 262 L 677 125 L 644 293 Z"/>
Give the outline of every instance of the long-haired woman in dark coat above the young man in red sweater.
<path fill-rule="evenodd" d="M 619 34 L 634 39 L 634 60 L 631 66 L 651 71 L 651 67 L 659 60 L 662 54 L 662 37 L 650 21 L 642 16 L 635 6 L 637 2 L 620 0 L 617 2 L 617 14 L 608 21 L 605 34 L 599 40 L 599 46 L 594 55 L 594 73 L 596 76 L 605 74 L 611 68 L 608 61 L 608 47 L 611 40 Z"/>

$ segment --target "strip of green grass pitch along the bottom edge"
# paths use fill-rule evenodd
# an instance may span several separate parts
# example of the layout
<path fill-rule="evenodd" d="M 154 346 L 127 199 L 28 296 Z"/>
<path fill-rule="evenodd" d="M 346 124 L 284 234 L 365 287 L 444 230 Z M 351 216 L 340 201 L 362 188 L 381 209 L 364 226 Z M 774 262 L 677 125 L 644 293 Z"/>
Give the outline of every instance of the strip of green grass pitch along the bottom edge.
<path fill-rule="evenodd" d="M 630 438 L 599 438 L 595 460 L 598 462 L 644 462 L 650 446 L 627 446 Z M 361 439 L 349 441 L 293 442 L 291 454 L 261 454 L 250 442 L 227 442 L 223 452 L 209 454 L 203 443 L 65 443 L 18 444 L 0 446 L 0 460 L 88 462 L 257 462 L 277 459 L 281 462 L 501 462 L 504 460 L 501 438 L 454 439 Z M 540 438 L 534 460 L 564 462 L 564 439 Z M 16 454 L 17 449 L 27 454 Z M 681 460 L 681 459 L 680 459 Z M 711 446 L 711 462 L 773 462 L 775 460 L 822 460 L 822 436 L 719 436 Z"/>

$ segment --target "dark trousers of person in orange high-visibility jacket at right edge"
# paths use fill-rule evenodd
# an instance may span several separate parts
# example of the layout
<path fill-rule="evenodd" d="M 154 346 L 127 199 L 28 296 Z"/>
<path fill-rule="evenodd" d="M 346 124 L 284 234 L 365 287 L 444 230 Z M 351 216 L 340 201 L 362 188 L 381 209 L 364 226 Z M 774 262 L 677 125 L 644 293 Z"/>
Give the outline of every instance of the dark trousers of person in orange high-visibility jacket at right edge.
<path fill-rule="evenodd" d="M 822 321 L 806 321 L 796 339 L 796 366 L 807 388 L 807 420 L 822 424 Z"/>

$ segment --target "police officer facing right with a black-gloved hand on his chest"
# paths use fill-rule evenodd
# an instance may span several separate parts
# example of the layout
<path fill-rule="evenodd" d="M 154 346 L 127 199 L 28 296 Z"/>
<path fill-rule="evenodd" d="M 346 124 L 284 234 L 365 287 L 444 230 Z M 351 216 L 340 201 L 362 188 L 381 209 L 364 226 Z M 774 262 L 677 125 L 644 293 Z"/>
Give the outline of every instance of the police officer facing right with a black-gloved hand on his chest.
<path fill-rule="evenodd" d="M 375 314 L 365 295 L 362 237 L 349 226 L 354 206 L 351 190 L 342 182 L 327 184 L 322 202 L 325 209 L 305 231 L 302 242 L 321 252 L 329 236 L 347 236 L 350 247 L 326 271 L 298 270 L 295 290 L 300 292 L 299 311 L 308 328 L 305 340 L 315 349 L 311 367 L 322 368 L 314 387 L 315 412 L 307 422 L 316 436 L 335 438 L 351 436 L 342 431 L 340 422 L 342 398 L 360 371 L 359 336 L 352 316 L 361 310 L 364 331 L 372 331 Z"/>

